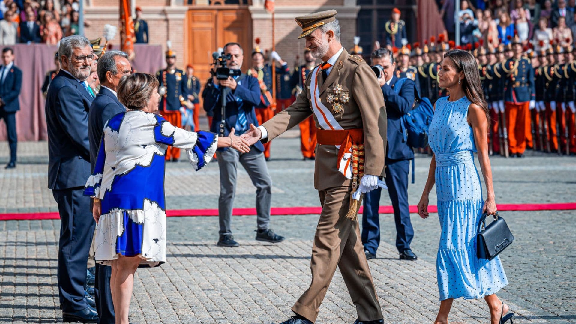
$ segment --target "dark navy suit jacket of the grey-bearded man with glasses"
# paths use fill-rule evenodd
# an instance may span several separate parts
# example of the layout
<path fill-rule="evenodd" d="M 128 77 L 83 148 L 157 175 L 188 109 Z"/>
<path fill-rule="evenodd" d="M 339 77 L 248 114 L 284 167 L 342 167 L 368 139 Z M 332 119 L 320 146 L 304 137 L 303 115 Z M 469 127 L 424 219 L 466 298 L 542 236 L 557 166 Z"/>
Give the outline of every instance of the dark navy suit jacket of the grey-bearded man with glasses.
<path fill-rule="evenodd" d="M 80 82 L 64 70 L 48 88 L 48 189 L 84 187 L 90 176 L 88 111 L 92 100 Z"/>

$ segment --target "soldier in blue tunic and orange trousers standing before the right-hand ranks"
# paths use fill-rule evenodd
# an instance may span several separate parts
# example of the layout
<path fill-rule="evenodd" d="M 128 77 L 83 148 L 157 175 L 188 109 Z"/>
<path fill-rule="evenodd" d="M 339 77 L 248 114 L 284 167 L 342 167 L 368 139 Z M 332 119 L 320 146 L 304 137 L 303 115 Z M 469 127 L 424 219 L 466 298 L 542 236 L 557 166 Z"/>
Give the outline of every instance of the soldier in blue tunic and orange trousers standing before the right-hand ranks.
<path fill-rule="evenodd" d="M 534 70 L 532 63 L 522 57 L 524 48 L 514 35 L 513 57 L 502 66 L 506 73 L 505 109 L 508 129 L 508 148 L 511 156 L 522 157 L 526 149 L 526 127 L 530 127 L 530 106 L 535 106 Z"/>

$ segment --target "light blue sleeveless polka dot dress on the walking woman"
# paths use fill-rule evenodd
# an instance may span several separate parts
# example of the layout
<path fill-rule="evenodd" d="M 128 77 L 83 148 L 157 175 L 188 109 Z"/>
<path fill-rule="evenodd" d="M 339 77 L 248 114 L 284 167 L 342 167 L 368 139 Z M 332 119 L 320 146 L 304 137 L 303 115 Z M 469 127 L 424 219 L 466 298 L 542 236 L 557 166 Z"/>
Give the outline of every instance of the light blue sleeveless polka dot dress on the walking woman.
<path fill-rule="evenodd" d="M 436 101 L 429 143 L 436 156 L 438 217 L 442 227 L 436 268 L 440 300 L 482 298 L 508 284 L 499 257 L 476 255 L 484 200 L 474 164 L 476 146 L 466 120 L 470 101 Z"/>

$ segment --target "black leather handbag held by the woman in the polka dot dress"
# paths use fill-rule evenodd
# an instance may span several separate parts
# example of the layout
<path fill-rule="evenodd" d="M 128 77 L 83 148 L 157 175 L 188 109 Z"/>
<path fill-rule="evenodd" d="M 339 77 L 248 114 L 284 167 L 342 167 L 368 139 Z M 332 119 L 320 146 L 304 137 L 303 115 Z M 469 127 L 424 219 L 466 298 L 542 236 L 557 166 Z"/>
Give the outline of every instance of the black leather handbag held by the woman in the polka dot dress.
<path fill-rule="evenodd" d="M 484 213 L 480 218 L 476 252 L 478 258 L 491 260 L 513 242 L 514 235 L 510 232 L 504 218 L 498 215 L 498 212 L 494 215 L 494 221 L 488 226 L 486 226 L 487 216 L 488 214 Z"/>

